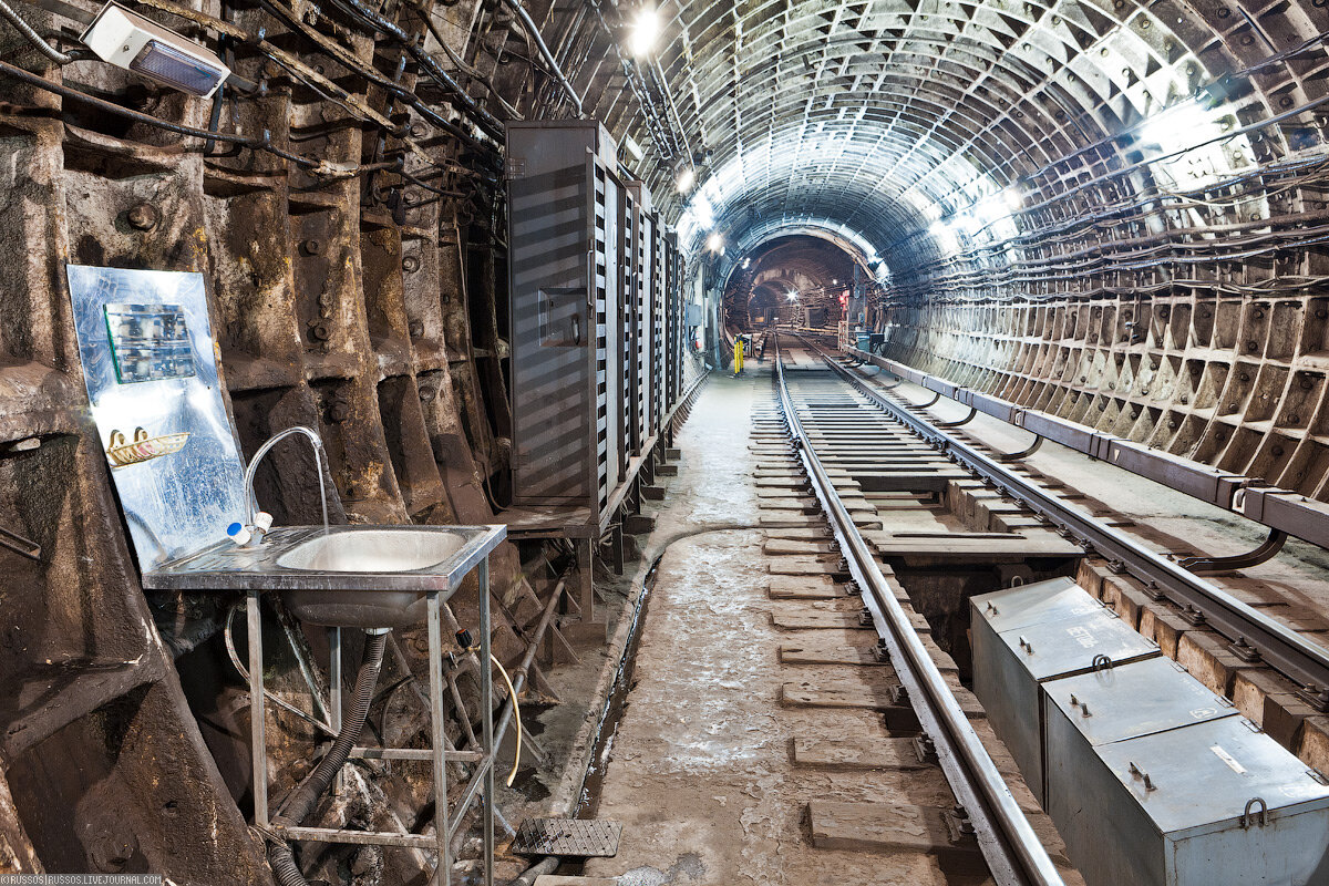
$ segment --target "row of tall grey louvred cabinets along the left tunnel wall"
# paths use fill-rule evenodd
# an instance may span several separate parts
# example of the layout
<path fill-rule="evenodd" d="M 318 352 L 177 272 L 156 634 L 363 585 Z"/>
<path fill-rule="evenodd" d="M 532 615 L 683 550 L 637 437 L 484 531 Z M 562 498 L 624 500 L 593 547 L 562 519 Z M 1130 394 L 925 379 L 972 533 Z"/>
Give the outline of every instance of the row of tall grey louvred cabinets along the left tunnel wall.
<path fill-rule="evenodd" d="M 682 396 L 682 260 L 594 121 L 508 139 L 513 503 L 605 515 Z"/>

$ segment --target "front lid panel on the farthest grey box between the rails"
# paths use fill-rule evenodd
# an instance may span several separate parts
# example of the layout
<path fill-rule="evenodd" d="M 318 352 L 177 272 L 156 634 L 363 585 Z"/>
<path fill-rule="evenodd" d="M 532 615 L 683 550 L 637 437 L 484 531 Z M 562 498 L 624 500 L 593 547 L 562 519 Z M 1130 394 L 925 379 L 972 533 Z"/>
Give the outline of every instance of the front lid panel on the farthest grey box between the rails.
<path fill-rule="evenodd" d="M 1159 655 L 1159 647 L 1098 607 L 1054 622 L 1011 628 L 997 635 L 1038 681 L 1079 673 L 1102 663 L 1126 663 Z"/>

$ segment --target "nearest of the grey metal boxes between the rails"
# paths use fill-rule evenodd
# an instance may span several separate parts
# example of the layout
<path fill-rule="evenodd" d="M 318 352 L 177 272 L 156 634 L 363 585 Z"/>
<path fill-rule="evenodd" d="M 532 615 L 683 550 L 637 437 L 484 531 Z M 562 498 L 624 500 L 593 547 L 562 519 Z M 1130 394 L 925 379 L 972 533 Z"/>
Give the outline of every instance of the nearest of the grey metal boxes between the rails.
<path fill-rule="evenodd" d="M 1329 786 L 1244 717 L 1096 747 L 1063 717 L 1049 752 L 1049 813 L 1087 886 L 1329 883 Z"/>

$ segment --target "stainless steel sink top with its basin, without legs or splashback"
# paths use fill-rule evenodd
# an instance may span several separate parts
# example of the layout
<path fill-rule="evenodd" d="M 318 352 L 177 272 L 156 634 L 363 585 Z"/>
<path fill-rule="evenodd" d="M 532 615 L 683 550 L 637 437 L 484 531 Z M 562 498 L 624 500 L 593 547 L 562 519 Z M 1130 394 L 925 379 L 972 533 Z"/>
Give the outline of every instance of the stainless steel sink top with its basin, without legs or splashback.
<path fill-rule="evenodd" d="M 283 526 L 262 545 L 230 539 L 144 574 L 144 587 L 278 591 L 298 619 L 328 627 L 405 627 L 425 594 L 452 595 L 505 526 Z"/>

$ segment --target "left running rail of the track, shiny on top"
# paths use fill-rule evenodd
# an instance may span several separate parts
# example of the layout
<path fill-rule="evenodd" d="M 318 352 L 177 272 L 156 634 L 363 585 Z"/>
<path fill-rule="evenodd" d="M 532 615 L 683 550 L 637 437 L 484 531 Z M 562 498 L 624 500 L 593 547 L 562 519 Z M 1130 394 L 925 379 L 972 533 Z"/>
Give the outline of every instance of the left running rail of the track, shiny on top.
<path fill-rule="evenodd" d="M 820 457 L 808 442 L 784 379 L 779 335 L 775 339 L 775 371 L 780 408 L 799 458 L 845 555 L 849 574 L 863 588 L 863 604 L 872 614 L 872 623 L 886 646 L 890 663 L 918 723 L 936 745 L 942 772 L 974 826 L 993 878 L 999 886 L 1062 886 L 1062 877 L 1042 841 L 928 655 L 909 616 L 886 584 L 876 558 L 835 491 Z"/>

